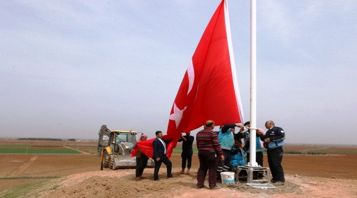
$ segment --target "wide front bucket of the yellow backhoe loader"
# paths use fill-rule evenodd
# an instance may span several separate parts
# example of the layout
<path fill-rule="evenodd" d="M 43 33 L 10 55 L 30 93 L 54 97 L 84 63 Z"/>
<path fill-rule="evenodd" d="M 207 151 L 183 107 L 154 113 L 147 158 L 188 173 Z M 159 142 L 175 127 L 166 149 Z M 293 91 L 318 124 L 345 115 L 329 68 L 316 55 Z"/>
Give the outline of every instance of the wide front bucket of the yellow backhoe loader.
<path fill-rule="evenodd" d="M 130 155 L 117 155 L 114 158 L 113 170 L 116 169 L 135 169 L 136 167 L 136 157 L 130 157 Z M 149 158 L 147 168 L 154 168 L 155 162 L 153 159 Z"/>

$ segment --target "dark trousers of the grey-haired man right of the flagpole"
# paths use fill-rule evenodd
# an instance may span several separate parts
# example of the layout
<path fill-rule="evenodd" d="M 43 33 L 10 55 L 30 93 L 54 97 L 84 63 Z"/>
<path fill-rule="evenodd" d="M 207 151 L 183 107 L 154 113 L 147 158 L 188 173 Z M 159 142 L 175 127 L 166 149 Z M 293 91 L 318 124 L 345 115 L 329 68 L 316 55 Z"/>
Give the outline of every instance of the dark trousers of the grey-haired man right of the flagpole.
<path fill-rule="evenodd" d="M 268 163 L 270 171 L 273 175 L 273 179 L 280 182 L 285 182 L 284 171 L 281 165 L 283 160 L 283 148 L 278 147 L 274 149 L 268 149 Z"/>

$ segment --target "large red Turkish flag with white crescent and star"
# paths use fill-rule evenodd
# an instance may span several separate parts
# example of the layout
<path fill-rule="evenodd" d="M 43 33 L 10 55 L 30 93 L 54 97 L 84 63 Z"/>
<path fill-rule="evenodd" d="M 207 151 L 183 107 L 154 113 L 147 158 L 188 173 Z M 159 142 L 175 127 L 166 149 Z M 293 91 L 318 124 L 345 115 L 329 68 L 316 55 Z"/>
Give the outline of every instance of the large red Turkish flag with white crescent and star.
<path fill-rule="evenodd" d="M 172 140 L 167 147 L 169 158 L 181 133 L 203 126 L 206 120 L 213 120 L 215 125 L 243 121 L 230 32 L 228 6 L 222 0 L 198 43 L 172 106 L 164 136 Z M 140 143 L 137 145 L 149 153 Z"/>

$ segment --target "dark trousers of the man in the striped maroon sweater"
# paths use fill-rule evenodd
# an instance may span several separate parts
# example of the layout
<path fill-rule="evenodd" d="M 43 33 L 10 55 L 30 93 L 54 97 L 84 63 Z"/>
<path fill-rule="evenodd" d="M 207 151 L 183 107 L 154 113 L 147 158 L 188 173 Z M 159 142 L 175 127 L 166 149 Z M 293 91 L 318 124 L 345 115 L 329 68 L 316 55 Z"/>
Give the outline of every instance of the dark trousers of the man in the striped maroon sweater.
<path fill-rule="evenodd" d="M 216 186 L 216 176 L 218 167 L 218 156 L 211 151 L 198 151 L 198 159 L 200 167 L 197 171 L 197 187 L 203 187 L 208 170 L 208 186 L 213 188 Z"/>

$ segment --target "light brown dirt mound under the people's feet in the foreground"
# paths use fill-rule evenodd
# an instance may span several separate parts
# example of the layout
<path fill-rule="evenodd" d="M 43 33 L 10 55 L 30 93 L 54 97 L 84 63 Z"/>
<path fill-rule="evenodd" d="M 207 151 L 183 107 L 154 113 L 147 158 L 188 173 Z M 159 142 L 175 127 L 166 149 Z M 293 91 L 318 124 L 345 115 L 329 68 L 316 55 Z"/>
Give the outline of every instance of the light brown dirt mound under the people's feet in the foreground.
<path fill-rule="evenodd" d="M 165 171 L 163 167 L 163 171 Z M 140 181 L 134 179 L 135 170 L 93 171 L 53 179 L 49 185 L 37 189 L 43 192 L 34 197 L 46 198 L 105 198 L 105 197 L 158 197 L 158 198 L 232 198 L 237 196 L 280 198 L 280 197 L 343 197 L 357 196 L 357 181 L 326 179 L 306 176 L 286 175 L 286 183 L 275 189 L 261 190 L 248 188 L 244 182 L 235 186 L 218 184 L 221 189 L 196 189 L 196 172 L 180 175 L 180 169 L 173 170 L 174 178 L 166 178 L 160 171 L 159 181 L 152 178 L 153 169 L 145 169 Z M 207 181 L 206 181 L 207 182 Z M 205 184 L 206 186 L 208 184 Z M 55 188 L 56 187 L 56 188 Z M 47 191 L 46 191 L 47 189 Z M 48 190 L 57 189 L 57 190 Z"/>

